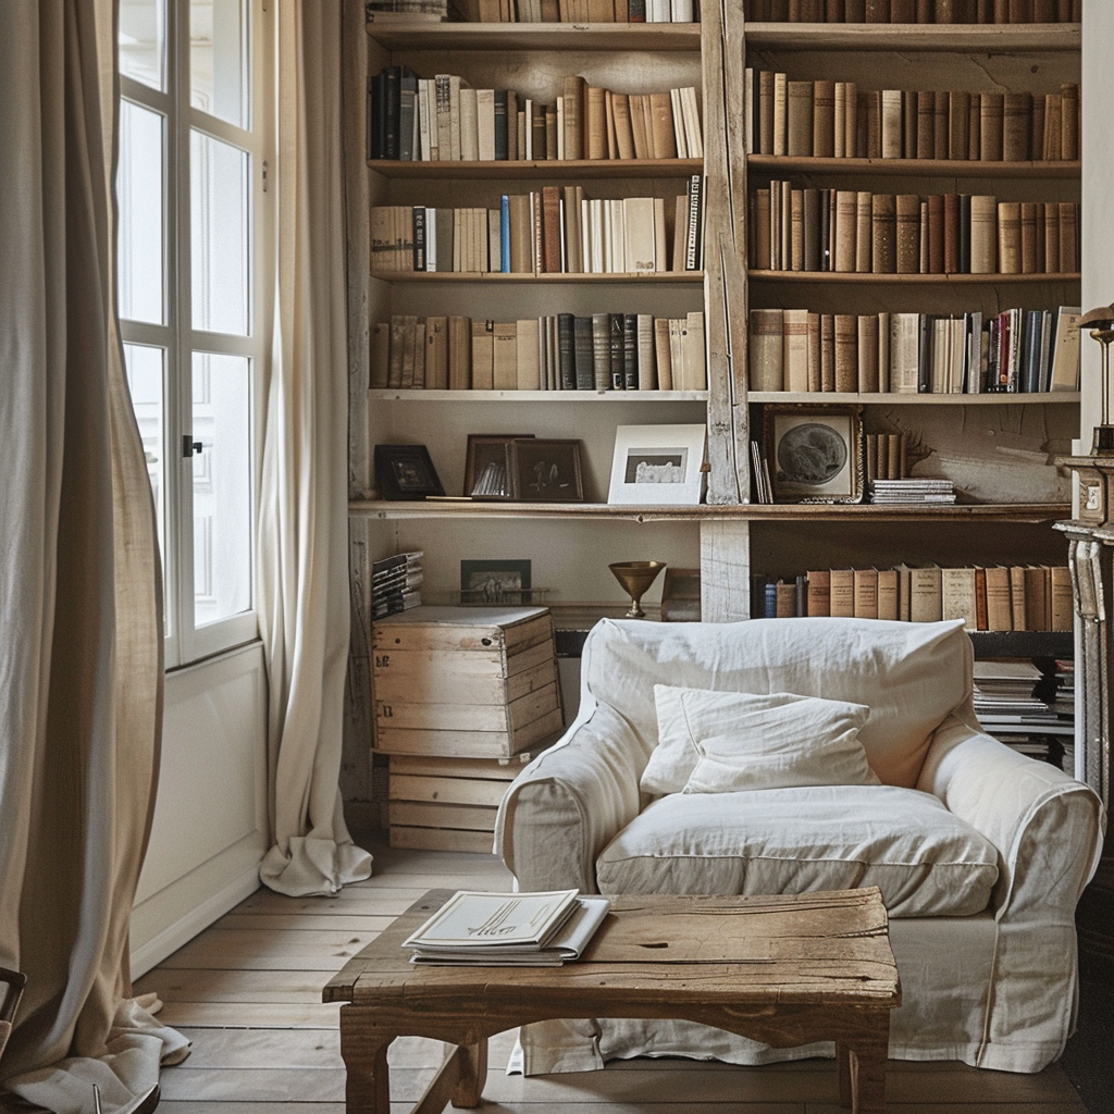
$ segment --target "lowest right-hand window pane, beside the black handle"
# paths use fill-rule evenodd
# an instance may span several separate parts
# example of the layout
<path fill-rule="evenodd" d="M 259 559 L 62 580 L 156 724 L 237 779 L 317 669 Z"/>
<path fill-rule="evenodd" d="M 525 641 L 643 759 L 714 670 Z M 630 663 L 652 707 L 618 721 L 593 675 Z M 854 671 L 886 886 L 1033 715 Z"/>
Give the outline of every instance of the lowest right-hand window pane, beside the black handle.
<path fill-rule="evenodd" d="M 252 606 L 252 361 L 195 352 L 194 622 Z"/>

